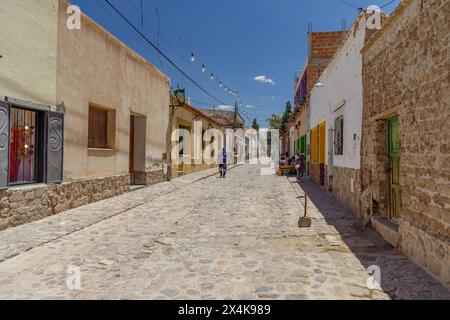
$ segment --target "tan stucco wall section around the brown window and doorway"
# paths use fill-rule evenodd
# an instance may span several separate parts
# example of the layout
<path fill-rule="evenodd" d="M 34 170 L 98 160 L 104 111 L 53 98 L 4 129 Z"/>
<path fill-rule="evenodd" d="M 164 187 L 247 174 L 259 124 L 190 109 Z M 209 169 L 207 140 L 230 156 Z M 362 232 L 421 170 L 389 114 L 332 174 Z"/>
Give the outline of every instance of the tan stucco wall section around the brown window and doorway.
<path fill-rule="evenodd" d="M 66 28 L 60 2 L 57 100 L 64 102 L 64 180 L 129 171 L 130 113 L 146 117 L 146 166 L 166 152 L 170 82 L 167 76 L 83 16 L 81 30 Z M 113 150 L 88 150 L 89 103 L 116 111 Z"/>

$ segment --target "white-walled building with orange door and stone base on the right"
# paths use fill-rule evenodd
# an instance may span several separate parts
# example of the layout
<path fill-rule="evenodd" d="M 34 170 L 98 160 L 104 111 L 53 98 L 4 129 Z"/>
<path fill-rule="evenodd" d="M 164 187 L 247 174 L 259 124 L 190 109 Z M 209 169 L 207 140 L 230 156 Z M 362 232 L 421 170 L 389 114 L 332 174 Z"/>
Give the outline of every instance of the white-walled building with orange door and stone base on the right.
<path fill-rule="evenodd" d="M 315 151 L 312 159 L 325 157 L 326 189 L 357 216 L 361 196 L 357 183 L 361 169 L 363 112 L 361 49 L 372 34 L 366 27 L 368 15 L 360 12 L 321 74 L 321 86 L 312 89 L 309 99 L 312 150 Z"/>

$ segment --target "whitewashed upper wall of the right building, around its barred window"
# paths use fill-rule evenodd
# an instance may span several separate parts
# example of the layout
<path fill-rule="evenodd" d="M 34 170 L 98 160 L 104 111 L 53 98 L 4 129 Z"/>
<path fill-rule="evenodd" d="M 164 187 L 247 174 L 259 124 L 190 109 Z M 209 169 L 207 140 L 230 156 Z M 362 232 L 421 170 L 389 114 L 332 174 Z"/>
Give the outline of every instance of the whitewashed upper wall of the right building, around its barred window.
<path fill-rule="evenodd" d="M 362 130 L 362 56 L 366 36 L 365 17 L 361 14 L 333 61 L 323 72 L 323 87 L 311 92 L 309 129 L 327 121 L 326 164 L 359 169 Z M 340 107 L 341 106 L 341 107 Z M 339 108 L 340 107 L 340 108 Z M 344 116 L 344 155 L 334 155 L 334 122 Z M 354 140 L 354 135 L 356 140 Z"/>

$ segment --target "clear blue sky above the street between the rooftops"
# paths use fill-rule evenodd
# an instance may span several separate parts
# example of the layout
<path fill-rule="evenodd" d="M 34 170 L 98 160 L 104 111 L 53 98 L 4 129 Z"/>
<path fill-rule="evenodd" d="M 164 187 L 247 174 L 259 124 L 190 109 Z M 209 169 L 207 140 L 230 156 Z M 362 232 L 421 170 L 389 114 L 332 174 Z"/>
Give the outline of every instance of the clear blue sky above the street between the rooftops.
<path fill-rule="evenodd" d="M 307 54 L 308 23 L 313 31 L 350 27 L 357 10 L 340 0 L 110 0 L 183 71 L 227 105 L 235 97 L 217 80 L 240 93 L 245 115 L 261 126 L 293 100 L 293 78 Z M 72 0 L 81 10 L 166 73 L 172 87 L 186 88 L 195 107 L 220 106 L 171 67 L 113 12 L 104 0 Z M 344 0 L 355 7 L 384 5 L 389 0 Z M 400 1 L 383 10 L 391 12 Z M 158 36 L 159 31 L 159 36 Z M 190 61 L 191 53 L 195 63 Z M 202 73 L 202 64 L 206 72 Z M 256 81 L 258 77 L 260 81 Z M 263 76 L 265 78 L 263 78 Z M 248 120 L 247 120 L 248 121 Z"/>

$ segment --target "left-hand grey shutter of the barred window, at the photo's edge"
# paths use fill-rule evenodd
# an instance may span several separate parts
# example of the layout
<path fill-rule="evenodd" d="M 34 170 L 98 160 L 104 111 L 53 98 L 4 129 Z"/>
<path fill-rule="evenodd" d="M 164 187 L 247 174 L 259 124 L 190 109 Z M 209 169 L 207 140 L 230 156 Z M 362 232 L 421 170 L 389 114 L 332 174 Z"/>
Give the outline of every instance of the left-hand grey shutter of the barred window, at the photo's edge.
<path fill-rule="evenodd" d="M 0 101 L 0 190 L 9 180 L 9 104 Z"/>

